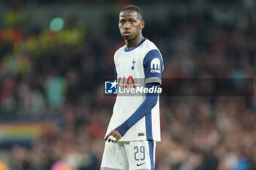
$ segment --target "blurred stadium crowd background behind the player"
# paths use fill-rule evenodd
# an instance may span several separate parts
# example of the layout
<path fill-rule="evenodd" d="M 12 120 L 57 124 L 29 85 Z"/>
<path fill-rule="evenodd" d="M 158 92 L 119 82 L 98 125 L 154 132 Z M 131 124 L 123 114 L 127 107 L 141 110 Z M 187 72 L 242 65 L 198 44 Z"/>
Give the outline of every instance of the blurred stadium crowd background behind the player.
<path fill-rule="evenodd" d="M 255 0 L 1 0 L 1 170 L 99 169 L 127 4 L 143 9 L 164 78 L 255 78 Z M 162 96 L 156 169 L 255 170 L 255 94 Z"/>

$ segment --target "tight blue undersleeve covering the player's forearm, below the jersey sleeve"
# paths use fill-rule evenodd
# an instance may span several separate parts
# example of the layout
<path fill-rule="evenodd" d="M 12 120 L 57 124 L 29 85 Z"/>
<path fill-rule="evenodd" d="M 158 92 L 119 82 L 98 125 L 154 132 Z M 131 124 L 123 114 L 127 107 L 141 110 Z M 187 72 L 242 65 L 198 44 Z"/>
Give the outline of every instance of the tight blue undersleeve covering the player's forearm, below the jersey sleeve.
<path fill-rule="evenodd" d="M 152 88 L 153 86 L 157 86 L 157 88 L 159 88 L 159 84 L 156 83 L 146 84 L 146 88 Z M 146 93 L 146 98 L 143 103 L 140 104 L 140 107 L 138 107 L 138 109 L 124 123 L 119 125 L 116 128 L 116 131 L 118 131 L 121 136 L 124 136 L 132 125 L 135 125 L 135 123 L 137 123 L 142 117 L 146 116 L 146 113 L 148 113 L 148 111 L 157 104 L 157 100 L 158 93 Z"/>

